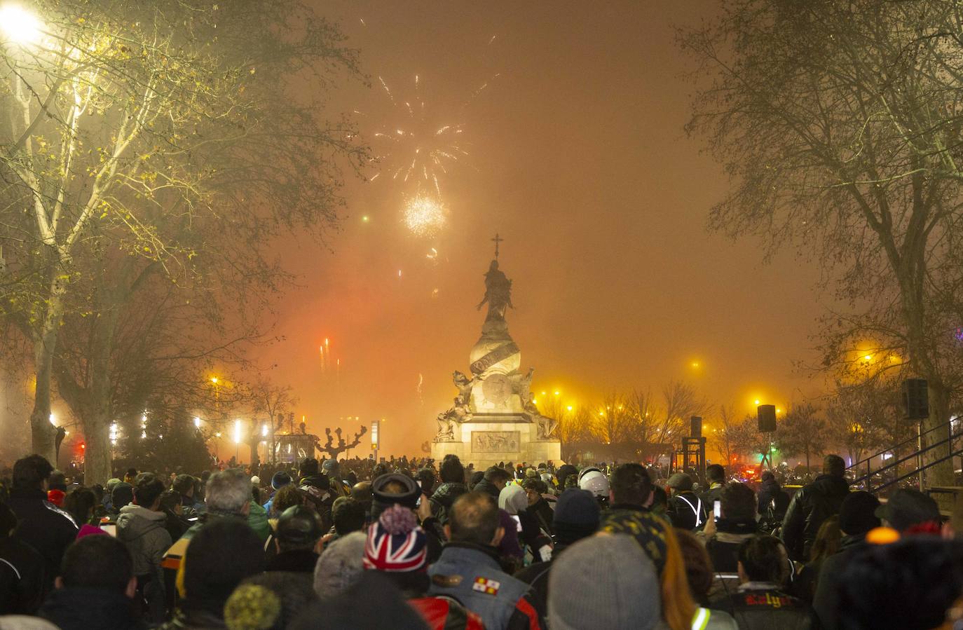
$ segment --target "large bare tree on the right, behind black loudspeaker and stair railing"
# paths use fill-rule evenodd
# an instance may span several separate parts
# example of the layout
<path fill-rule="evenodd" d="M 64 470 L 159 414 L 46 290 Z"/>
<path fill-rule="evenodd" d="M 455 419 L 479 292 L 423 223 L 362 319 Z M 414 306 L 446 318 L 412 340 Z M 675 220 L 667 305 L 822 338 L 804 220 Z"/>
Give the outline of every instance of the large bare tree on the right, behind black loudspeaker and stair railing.
<path fill-rule="evenodd" d="M 929 383 L 929 429 L 948 422 L 961 365 L 961 12 L 941 0 L 727 0 L 679 37 L 707 79 L 688 130 L 735 182 L 712 225 L 819 260 L 841 304 L 824 322 L 824 364 L 894 351 Z M 932 478 L 951 483 L 950 462 Z"/>

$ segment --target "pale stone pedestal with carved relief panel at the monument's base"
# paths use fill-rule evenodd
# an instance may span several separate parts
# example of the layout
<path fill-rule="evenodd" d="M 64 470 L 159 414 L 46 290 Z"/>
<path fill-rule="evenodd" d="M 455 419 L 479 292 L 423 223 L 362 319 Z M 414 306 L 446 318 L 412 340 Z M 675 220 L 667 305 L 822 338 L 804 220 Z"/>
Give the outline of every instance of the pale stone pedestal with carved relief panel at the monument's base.
<path fill-rule="evenodd" d="M 500 461 L 515 464 L 528 461 L 530 465 L 552 460 L 561 462 L 561 442 L 540 439 L 538 426 L 520 415 L 476 415 L 470 422 L 455 427 L 455 439 L 432 442 L 431 457 L 441 461 L 454 454 L 467 466 L 484 470 Z"/>

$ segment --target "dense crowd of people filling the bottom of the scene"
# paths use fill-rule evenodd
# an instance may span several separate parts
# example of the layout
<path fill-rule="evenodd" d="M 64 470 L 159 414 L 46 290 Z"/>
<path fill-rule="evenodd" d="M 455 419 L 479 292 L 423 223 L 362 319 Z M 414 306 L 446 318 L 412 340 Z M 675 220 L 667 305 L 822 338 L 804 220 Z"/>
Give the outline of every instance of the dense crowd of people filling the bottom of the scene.
<path fill-rule="evenodd" d="M 455 456 L 254 472 L 126 470 L 81 486 L 39 456 L 0 496 L 0 629 L 950 629 L 963 503 L 792 497 L 586 466 Z M 403 464 L 403 465 L 402 465 Z"/>

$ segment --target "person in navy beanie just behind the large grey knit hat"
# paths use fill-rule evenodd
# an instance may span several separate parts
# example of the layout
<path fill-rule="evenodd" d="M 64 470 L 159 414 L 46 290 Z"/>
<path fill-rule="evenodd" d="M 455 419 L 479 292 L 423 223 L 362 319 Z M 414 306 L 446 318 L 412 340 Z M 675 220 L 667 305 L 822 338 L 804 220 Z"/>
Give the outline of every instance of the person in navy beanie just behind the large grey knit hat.
<path fill-rule="evenodd" d="M 549 569 L 565 549 L 598 530 L 599 514 L 599 504 L 588 490 L 570 487 L 560 494 L 552 519 L 555 548 L 551 558 L 546 562 L 530 564 L 513 575 L 531 585 L 537 610 L 546 610 L 548 606 Z"/>

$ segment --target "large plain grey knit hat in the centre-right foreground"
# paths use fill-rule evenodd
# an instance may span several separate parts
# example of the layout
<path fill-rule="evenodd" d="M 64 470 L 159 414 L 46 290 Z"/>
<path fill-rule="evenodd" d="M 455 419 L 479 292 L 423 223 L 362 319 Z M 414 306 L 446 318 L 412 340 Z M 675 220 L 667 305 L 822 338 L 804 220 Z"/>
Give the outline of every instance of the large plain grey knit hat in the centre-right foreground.
<path fill-rule="evenodd" d="M 649 630 L 661 622 L 659 576 L 628 536 L 579 540 L 552 563 L 548 581 L 553 630 Z"/>

